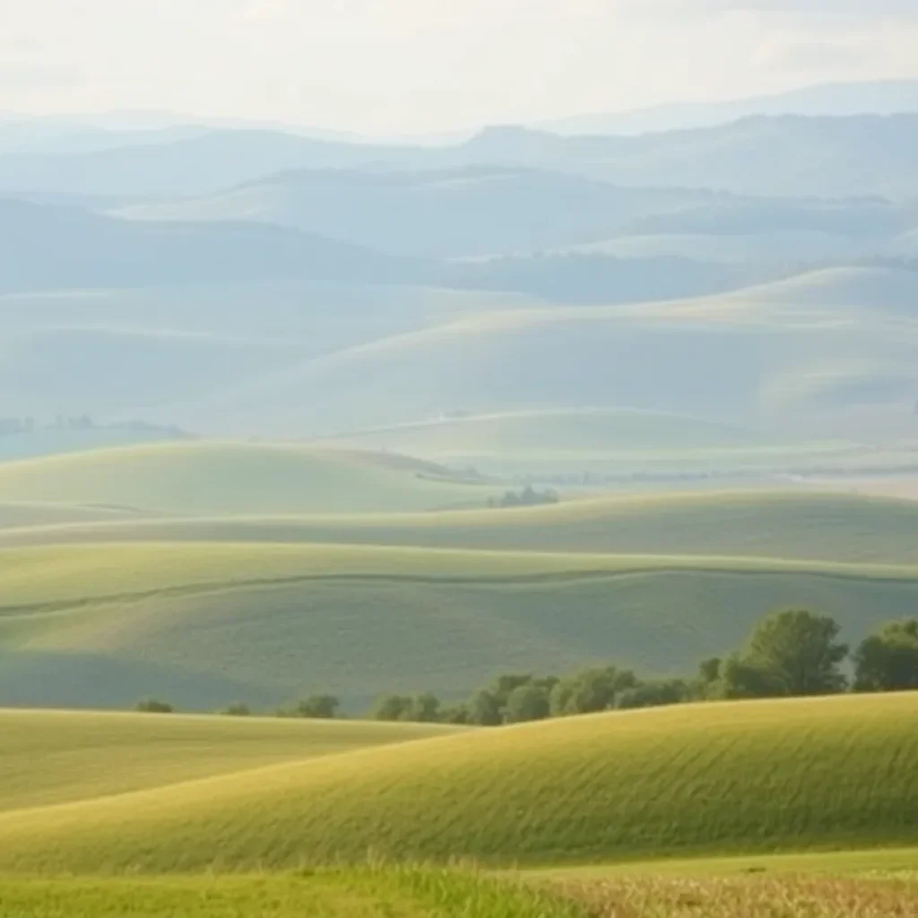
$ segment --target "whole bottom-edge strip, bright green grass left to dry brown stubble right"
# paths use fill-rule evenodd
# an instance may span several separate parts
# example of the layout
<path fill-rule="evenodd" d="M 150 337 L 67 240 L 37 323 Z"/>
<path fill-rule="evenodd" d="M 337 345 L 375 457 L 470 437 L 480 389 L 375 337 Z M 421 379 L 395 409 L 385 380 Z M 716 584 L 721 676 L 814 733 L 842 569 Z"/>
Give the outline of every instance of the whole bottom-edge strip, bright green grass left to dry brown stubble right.
<path fill-rule="evenodd" d="M 523 887 L 431 868 L 301 875 L 3 879 L 4 918 L 912 918 L 918 883 L 619 879 Z"/>

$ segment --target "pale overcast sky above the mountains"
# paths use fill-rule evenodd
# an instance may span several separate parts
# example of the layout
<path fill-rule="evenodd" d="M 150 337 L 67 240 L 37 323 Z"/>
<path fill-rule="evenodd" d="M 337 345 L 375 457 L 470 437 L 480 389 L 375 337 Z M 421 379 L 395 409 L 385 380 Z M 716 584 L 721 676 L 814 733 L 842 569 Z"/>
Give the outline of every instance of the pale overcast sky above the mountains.
<path fill-rule="evenodd" d="M 0 110 L 403 133 L 918 76 L 918 0 L 0 0 Z"/>

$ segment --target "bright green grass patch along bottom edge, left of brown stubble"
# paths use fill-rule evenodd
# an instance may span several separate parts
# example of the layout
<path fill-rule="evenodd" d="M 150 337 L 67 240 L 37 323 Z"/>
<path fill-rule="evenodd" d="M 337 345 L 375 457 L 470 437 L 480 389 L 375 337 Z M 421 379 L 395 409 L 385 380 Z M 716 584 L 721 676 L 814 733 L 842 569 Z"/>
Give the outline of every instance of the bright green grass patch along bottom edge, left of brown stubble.
<path fill-rule="evenodd" d="M 300 876 L 0 880 L 4 918 L 589 918 L 584 905 L 471 873 L 360 868 Z"/>

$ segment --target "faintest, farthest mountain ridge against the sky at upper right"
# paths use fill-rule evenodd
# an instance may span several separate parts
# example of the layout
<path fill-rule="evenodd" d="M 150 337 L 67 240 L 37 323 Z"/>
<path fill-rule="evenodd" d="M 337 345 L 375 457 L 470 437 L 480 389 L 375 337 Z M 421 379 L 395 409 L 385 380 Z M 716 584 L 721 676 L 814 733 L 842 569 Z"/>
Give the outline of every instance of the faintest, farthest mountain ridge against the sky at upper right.
<path fill-rule="evenodd" d="M 918 112 L 918 80 L 880 80 L 806 86 L 787 93 L 683 102 L 621 112 L 578 115 L 540 121 L 533 128 L 558 134 L 646 134 L 665 130 L 711 128 L 756 115 L 896 115 Z"/>

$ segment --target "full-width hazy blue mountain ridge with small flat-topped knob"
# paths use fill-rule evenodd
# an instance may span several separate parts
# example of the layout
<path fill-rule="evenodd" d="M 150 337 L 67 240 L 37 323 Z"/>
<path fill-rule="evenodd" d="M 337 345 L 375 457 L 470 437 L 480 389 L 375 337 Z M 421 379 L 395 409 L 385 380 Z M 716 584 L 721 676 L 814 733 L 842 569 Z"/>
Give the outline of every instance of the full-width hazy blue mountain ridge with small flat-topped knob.
<path fill-rule="evenodd" d="M 56 154 L 0 155 L 0 193 L 91 196 L 213 194 L 302 169 L 412 172 L 506 166 L 615 185 L 709 188 L 756 196 L 918 195 L 918 115 L 745 118 L 641 137 L 560 137 L 491 128 L 442 148 L 314 140 L 267 130 Z"/>

